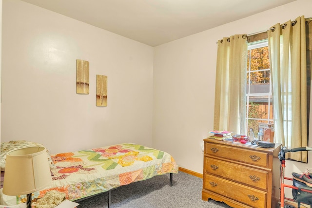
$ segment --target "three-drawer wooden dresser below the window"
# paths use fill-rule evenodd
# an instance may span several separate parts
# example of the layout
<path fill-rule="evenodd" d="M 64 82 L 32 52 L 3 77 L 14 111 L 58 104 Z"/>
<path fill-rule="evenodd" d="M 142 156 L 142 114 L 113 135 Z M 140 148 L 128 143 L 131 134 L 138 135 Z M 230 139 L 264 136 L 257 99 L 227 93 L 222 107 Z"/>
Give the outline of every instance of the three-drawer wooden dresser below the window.
<path fill-rule="evenodd" d="M 274 148 L 204 139 L 202 200 L 233 208 L 278 208 L 281 144 Z"/>

